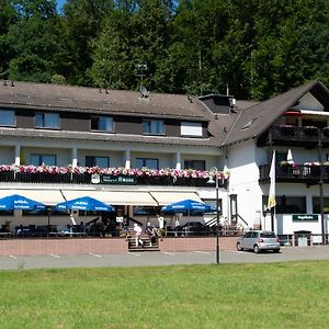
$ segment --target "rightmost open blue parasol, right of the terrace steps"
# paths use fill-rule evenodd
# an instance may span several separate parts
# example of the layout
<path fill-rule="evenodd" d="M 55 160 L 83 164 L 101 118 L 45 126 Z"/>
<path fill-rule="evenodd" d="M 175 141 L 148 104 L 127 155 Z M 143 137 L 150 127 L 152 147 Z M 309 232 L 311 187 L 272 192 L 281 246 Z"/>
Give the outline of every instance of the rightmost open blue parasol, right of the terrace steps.
<path fill-rule="evenodd" d="M 198 202 L 195 200 L 183 200 L 180 202 L 171 203 L 161 208 L 163 213 L 212 213 L 216 212 L 216 208 L 205 204 L 203 202 Z"/>

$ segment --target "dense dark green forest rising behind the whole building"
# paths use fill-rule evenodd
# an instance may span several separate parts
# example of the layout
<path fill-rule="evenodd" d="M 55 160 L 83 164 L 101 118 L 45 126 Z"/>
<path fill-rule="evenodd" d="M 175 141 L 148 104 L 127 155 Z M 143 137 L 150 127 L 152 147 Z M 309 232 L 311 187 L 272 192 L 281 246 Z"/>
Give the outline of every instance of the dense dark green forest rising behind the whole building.
<path fill-rule="evenodd" d="M 0 1 L 0 79 L 263 100 L 329 86 L 328 0 Z"/>

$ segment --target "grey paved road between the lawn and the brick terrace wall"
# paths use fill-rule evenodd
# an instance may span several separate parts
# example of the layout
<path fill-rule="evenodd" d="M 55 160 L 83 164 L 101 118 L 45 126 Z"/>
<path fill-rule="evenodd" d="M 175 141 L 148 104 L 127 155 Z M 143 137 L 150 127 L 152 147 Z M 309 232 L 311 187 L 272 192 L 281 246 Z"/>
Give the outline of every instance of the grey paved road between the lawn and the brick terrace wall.
<path fill-rule="evenodd" d="M 248 251 L 220 251 L 222 263 L 265 263 L 296 260 L 329 260 L 327 247 L 284 247 L 281 253 L 256 254 Z M 79 254 L 0 257 L 1 270 L 46 268 L 152 266 L 172 264 L 209 264 L 215 252 L 128 252 L 124 254 Z"/>

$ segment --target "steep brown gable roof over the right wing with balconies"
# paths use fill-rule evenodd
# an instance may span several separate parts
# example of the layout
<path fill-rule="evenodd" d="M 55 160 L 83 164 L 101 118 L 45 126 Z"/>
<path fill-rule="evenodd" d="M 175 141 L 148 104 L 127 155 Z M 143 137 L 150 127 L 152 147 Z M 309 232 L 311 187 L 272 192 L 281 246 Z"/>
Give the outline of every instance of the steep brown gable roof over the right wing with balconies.
<path fill-rule="evenodd" d="M 329 90 L 320 82 L 314 81 L 292 89 L 268 101 L 239 111 L 222 146 L 247 140 L 261 135 L 275 122 L 283 112 L 292 107 L 298 100 L 310 92 L 326 109 L 329 109 Z"/>

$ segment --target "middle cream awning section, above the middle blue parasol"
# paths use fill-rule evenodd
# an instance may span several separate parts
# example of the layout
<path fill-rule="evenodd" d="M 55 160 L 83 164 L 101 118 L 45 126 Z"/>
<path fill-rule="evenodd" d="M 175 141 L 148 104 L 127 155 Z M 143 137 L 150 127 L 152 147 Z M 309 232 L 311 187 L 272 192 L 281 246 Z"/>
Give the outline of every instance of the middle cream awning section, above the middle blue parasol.
<path fill-rule="evenodd" d="M 67 200 L 91 196 L 112 205 L 157 206 L 157 202 L 148 192 L 128 191 L 92 191 L 92 190 L 61 190 Z"/>

